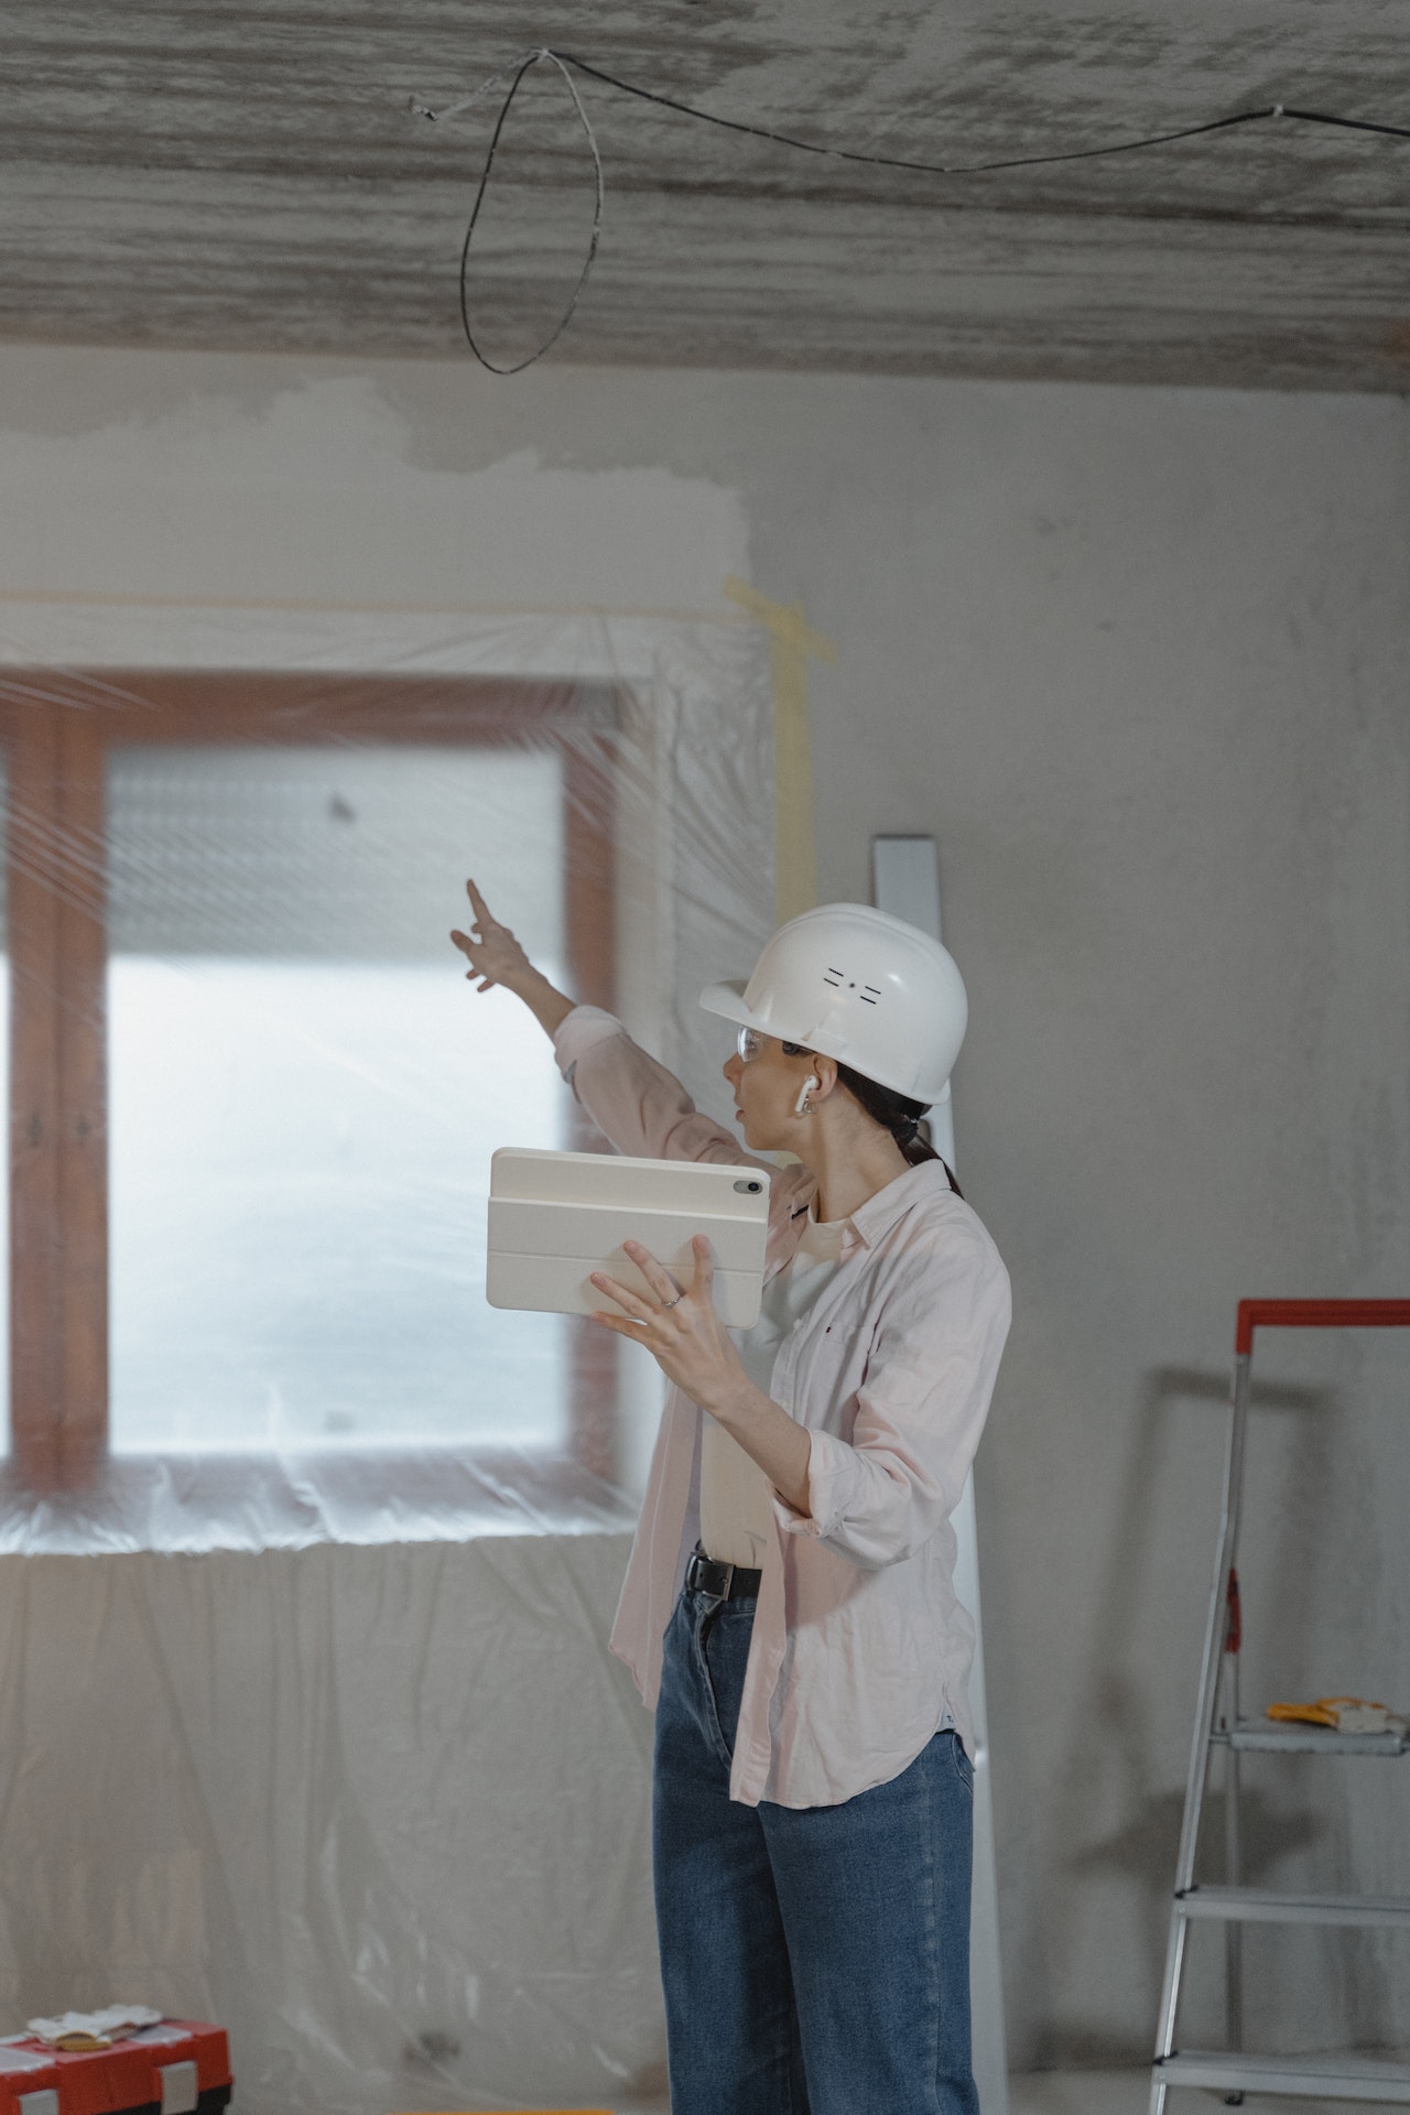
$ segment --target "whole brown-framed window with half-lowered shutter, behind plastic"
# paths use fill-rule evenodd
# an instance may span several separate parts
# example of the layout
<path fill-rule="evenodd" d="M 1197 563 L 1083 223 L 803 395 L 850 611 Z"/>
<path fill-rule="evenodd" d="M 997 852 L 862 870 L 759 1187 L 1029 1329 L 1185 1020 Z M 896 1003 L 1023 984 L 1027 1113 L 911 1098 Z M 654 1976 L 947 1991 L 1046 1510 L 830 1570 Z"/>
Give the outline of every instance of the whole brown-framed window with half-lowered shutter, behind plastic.
<path fill-rule="evenodd" d="M 17 1474 L 438 1445 L 605 1470 L 611 1343 L 482 1296 L 493 1146 L 588 1140 L 446 931 L 474 861 L 611 1005 L 611 696 L 161 675 L 6 700 Z"/>

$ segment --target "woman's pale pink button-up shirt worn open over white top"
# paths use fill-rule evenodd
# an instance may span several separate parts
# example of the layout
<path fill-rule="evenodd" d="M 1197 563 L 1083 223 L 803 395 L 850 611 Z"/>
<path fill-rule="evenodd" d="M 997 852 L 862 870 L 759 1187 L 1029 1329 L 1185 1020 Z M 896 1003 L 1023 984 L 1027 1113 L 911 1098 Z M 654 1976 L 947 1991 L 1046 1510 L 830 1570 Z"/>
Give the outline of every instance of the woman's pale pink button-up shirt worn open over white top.
<path fill-rule="evenodd" d="M 556 1051 L 619 1153 L 769 1167 L 765 1271 L 782 1269 L 816 1189 L 808 1170 L 757 1161 L 596 1007 L 564 1019 Z M 774 1493 L 729 1779 L 746 1806 L 835 1806 L 884 1785 L 945 1713 L 972 1753 L 975 1626 L 956 1599 L 949 1514 L 1008 1313 L 994 1242 L 924 1161 L 852 1214 L 841 1265 L 784 1337 L 772 1396 L 808 1428 L 810 1510 Z M 702 1417 L 670 1390 L 611 1635 L 647 1707 L 700 1533 Z"/>

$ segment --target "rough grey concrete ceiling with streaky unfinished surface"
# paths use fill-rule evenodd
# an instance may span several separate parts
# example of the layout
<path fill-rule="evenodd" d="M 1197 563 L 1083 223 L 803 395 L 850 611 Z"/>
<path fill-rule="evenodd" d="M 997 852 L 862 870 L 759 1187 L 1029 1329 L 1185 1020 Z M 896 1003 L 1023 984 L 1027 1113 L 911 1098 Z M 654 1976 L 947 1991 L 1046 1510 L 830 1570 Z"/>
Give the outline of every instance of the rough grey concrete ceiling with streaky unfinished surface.
<path fill-rule="evenodd" d="M 820 144 L 985 159 L 1273 102 L 1410 125 L 1408 32 L 1404 0 L 0 0 L 0 336 L 469 357 L 459 250 L 497 106 L 427 125 L 408 97 L 533 44 Z M 1268 121 L 930 178 L 581 95 L 607 214 L 554 360 L 1410 385 L 1410 140 Z M 509 362 L 590 226 L 550 68 L 501 167 L 474 313 Z"/>

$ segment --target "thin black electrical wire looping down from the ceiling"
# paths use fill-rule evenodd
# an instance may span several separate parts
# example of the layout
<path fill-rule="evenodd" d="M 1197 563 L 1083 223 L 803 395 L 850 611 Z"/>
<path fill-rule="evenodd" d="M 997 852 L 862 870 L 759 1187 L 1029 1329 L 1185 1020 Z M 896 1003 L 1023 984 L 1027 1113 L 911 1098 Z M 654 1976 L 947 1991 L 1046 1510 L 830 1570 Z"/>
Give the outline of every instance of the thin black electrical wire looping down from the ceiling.
<path fill-rule="evenodd" d="M 480 209 L 484 205 L 484 195 L 488 190 L 490 169 L 495 167 L 495 150 L 499 148 L 499 135 L 503 133 L 505 118 L 509 116 L 509 106 L 518 95 L 524 74 L 531 70 L 531 66 L 539 66 L 539 61 L 543 59 L 556 66 L 558 72 L 562 74 L 569 95 L 573 97 L 573 108 L 588 137 L 588 148 L 592 152 L 592 173 L 596 184 L 596 205 L 592 214 L 592 235 L 588 237 L 588 256 L 583 260 L 583 269 L 577 277 L 577 286 L 573 288 L 569 305 L 558 317 L 558 324 L 554 326 L 552 334 L 539 345 L 539 349 L 528 353 L 526 360 L 516 362 L 512 368 L 501 368 L 495 366 L 493 360 L 484 357 L 484 353 L 476 345 L 476 334 L 469 324 L 469 290 L 467 290 L 469 252 L 476 235 L 476 222 L 480 220 Z M 509 74 L 514 74 L 499 110 L 499 118 L 495 121 L 490 146 L 484 157 L 484 169 L 480 171 L 480 184 L 476 188 L 476 203 L 469 214 L 469 226 L 465 228 L 465 243 L 461 247 L 461 324 L 465 326 L 465 341 L 471 353 L 476 355 L 480 366 L 490 370 L 490 374 L 522 374 L 524 368 L 531 368 L 535 360 L 543 357 L 550 345 L 554 345 L 567 330 L 569 319 L 577 309 L 577 302 L 581 300 L 583 288 L 588 286 L 592 266 L 596 262 L 598 239 L 602 233 L 602 195 L 605 195 L 602 157 L 598 152 L 596 135 L 588 121 L 588 112 L 581 106 L 569 68 L 575 68 L 579 74 L 586 74 L 592 80 L 600 80 L 609 89 L 617 89 L 621 95 L 634 95 L 643 104 L 657 104 L 662 110 L 674 110 L 681 116 L 695 118 L 700 125 L 719 125 L 723 131 L 748 133 L 750 140 L 769 140 L 774 146 L 786 146 L 799 154 L 822 154 L 829 157 L 831 161 L 865 163 L 873 169 L 905 169 L 911 176 L 987 176 L 998 169 L 1044 169 L 1063 161 L 1101 161 L 1103 157 L 1110 154 L 1137 154 L 1146 148 L 1171 146 L 1177 140 L 1199 140 L 1205 133 L 1230 131 L 1235 125 L 1260 125 L 1266 118 L 1292 118 L 1298 125 L 1338 125 L 1344 131 L 1366 131 L 1366 133 L 1380 133 L 1383 137 L 1389 140 L 1410 140 L 1410 127 L 1406 125 L 1380 125 L 1374 118 L 1344 118 L 1325 110 L 1294 110 L 1290 104 L 1262 104 L 1256 110 L 1235 110 L 1230 116 L 1205 118 L 1205 123 L 1201 125 L 1182 125 L 1175 131 L 1142 133 L 1137 140 L 1112 140 L 1106 146 L 1063 148 L 1055 154 L 1006 154 L 996 161 L 911 161 L 903 154 L 869 154 L 860 148 L 822 146 L 818 140 L 799 140 L 793 133 L 772 131 L 767 125 L 750 125 L 744 118 L 723 118 L 717 116 L 717 112 L 712 110 L 700 110 L 698 104 L 685 104 L 674 95 L 662 95 L 657 89 L 643 89 L 634 80 L 621 80 L 617 74 L 609 74 L 600 66 L 592 66 L 588 59 L 575 57 L 571 51 L 550 51 L 550 47 L 543 44 L 537 51 L 524 53 L 524 57 L 518 59 L 512 68 L 503 68 L 499 74 L 490 74 L 488 80 L 482 80 L 478 89 L 461 97 L 459 104 L 450 104 L 446 110 L 429 110 L 425 104 L 412 99 L 412 110 L 419 116 L 444 121 L 457 116 L 461 110 L 467 110 L 471 104 L 478 104 L 484 95 L 490 93 L 490 89 L 499 87 L 501 80 L 507 80 Z"/>

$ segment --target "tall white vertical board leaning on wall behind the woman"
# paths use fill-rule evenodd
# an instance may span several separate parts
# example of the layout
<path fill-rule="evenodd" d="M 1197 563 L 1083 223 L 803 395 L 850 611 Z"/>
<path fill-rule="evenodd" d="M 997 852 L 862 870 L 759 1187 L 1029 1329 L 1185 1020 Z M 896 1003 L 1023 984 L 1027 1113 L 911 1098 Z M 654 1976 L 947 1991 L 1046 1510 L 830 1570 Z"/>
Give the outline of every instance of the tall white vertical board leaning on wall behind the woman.
<path fill-rule="evenodd" d="M 941 865 L 934 838 L 873 838 L 871 893 L 882 912 L 905 918 L 941 939 Z M 956 1104 L 930 1110 L 934 1151 L 956 1165 Z M 970 1893 L 970 2016 L 975 2033 L 975 2088 L 983 2115 L 1008 2115 L 1008 2058 L 1004 2054 L 1004 1975 L 998 1948 L 998 1876 L 994 1868 L 994 1781 L 989 1774 L 989 1711 L 985 1703 L 983 1626 L 979 1620 L 979 1548 L 975 1535 L 975 1476 L 951 1514 L 960 1552 L 956 1593 L 975 1620 L 970 1711 L 975 1713 L 975 1882 Z"/>

